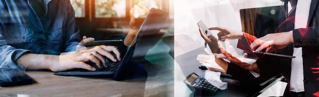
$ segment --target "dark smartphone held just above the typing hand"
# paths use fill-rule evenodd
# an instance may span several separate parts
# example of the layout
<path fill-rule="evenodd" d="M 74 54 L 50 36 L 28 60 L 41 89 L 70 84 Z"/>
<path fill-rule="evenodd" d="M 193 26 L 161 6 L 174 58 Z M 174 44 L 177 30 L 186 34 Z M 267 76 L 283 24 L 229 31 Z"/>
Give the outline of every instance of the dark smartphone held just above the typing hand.
<path fill-rule="evenodd" d="M 84 46 L 85 47 L 92 47 L 92 46 L 100 46 L 100 45 L 105 45 L 105 46 L 121 46 L 123 44 L 123 40 L 100 40 L 100 41 L 93 41 L 86 43 Z"/>

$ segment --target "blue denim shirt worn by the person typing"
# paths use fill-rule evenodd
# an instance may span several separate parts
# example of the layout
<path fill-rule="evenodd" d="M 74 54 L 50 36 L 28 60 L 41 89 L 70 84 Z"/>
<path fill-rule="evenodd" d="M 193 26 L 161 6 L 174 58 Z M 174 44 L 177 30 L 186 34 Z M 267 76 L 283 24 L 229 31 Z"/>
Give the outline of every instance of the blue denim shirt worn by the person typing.
<path fill-rule="evenodd" d="M 25 68 L 16 61 L 25 53 L 59 55 L 80 42 L 70 0 L 44 0 L 38 18 L 29 0 L 0 0 L 0 69 Z"/>

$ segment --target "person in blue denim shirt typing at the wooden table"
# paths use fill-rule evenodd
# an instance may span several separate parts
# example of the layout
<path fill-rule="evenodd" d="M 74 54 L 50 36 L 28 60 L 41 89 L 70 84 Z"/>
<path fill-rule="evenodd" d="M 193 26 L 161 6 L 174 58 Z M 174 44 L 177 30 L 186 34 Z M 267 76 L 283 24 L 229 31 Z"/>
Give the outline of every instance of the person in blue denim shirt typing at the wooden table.
<path fill-rule="evenodd" d="M 113 62 L 121 60 L 116 47 L 83 46 L 93 40 L 84 36 L 81 41 L 69 0 L 0 1 L 0 69 L 93 71 L 96 68 L 84 62 L 101 68 L 104 56 Z"/>

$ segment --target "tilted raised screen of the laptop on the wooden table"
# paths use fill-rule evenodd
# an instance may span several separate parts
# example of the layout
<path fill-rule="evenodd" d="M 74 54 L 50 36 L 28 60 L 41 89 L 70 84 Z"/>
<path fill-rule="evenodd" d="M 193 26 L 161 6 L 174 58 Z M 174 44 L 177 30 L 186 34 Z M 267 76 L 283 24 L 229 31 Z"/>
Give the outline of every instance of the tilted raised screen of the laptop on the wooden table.
<path fill-rule="evenodd" d="M 152 8 L 142 23 L 142 26 L 134 38 L 132 46 L 126 52 L 120 66 L 114 73 L 114 80 L 120 80 L 124 77 L 125 65 L 131 61 L 133 54 L 138 52 L 142 56 L 145 56 L 147 51 L 155 45 L 161 35 L 159 34 L 160 29 L 168 17 L 168 13 L 159 9 Z M 135 50 L 138 49 L 138 50 Z"/>

